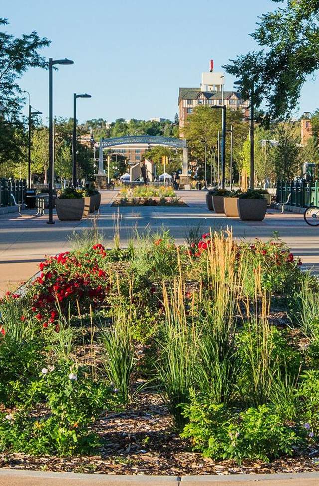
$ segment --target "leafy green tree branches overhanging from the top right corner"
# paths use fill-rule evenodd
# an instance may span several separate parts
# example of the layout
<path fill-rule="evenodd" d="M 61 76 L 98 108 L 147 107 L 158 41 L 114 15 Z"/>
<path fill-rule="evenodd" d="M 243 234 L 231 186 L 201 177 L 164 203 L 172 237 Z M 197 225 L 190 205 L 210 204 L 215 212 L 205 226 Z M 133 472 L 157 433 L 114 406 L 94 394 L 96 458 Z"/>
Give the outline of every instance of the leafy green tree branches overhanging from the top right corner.
<path fill-rule="evenodd" d="M 254 101 L 256 106 L 264 102 L 266 121 L 289 115 L 307 76 L 319 67 L 319 1 L 285 3 L 285 7 L 261 16 L 252 37 L 262 49 L 237 56 L 224 66 L 242 79 L 244 99 L 250 97 L 254 84 Z"/>

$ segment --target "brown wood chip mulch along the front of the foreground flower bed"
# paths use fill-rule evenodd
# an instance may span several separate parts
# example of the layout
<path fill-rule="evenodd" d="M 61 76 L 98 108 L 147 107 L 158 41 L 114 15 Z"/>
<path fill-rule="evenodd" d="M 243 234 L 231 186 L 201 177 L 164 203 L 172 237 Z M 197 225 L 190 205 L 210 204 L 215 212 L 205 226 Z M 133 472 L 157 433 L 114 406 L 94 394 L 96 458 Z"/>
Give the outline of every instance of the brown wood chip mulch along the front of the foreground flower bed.
<path fill-rule="evenodd" d="M 93 430 L 103 438 L 96 456 L 58 458 L 27 454 L 0 454 L 1 468 L 66 471 L 120 475 L 205 475 L 239 473 L 296 473 L 319 471 L 319 449 L 308 455 L 281 458 L 271 463 L 244 461 L 216 462 L 191 451 L 191 445 L 178 437 L 160 395 L 138 393 L 122 413 L 100 417 Z"/>

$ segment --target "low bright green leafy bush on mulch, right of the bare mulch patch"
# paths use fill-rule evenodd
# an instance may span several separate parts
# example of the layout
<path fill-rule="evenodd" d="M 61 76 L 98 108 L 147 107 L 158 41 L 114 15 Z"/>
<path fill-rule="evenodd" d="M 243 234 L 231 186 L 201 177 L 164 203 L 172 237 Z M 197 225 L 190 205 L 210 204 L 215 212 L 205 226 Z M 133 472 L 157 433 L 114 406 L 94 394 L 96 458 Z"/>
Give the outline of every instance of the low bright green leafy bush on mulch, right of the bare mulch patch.
<path fill-rule="evenodd" d="M 192 397 L 183 411 L 189 419 L 181 436 L 194 449 L 213 459 L 270 459 L 291 454 L 302 434 L 282 421 L 271 406 L 260 405 L 242 412 Z"/>

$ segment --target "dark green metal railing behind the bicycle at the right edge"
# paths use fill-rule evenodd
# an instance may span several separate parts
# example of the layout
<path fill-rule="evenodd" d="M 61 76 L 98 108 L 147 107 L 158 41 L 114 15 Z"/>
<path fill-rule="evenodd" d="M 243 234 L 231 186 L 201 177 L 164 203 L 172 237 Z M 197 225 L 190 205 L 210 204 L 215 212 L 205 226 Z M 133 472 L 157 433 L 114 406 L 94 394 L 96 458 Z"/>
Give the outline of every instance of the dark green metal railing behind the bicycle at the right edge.
<path fill-rule="evenodd" d="M 285 203 L 289 197 L 288 206 L 308 207 L 319 206 L 319 182 L 279 181 L 277 183 L 276 201 Z"/>

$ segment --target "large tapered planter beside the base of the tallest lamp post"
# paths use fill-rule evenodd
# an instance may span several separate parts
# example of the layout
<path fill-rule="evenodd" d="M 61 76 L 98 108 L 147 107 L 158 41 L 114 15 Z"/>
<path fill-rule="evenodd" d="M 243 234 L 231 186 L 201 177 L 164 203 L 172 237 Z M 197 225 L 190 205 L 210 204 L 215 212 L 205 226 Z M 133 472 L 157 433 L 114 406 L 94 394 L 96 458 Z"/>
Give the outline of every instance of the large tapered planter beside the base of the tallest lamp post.
<path fill-rule="evenodd" d="M 83 191 L 68 187 L 60 192 L 56 199 L 56 213 L 61 221 L 79 221 L 90 210 L 90 197 L 84 197 Z"/>

